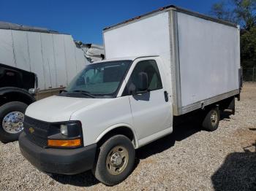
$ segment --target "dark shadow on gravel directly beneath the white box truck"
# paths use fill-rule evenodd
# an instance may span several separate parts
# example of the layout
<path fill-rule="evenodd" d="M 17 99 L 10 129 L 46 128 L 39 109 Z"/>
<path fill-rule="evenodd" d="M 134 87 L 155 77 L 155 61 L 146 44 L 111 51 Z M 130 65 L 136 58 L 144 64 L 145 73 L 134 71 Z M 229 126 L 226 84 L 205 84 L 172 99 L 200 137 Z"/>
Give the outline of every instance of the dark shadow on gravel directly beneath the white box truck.
<path fill-rule="evenodd" d="M 229 115 L 230 114 L 225 114 L 222 117 L 222 120 L 229 117 Z M 192 120 L 182 122 L 180 125 L 176 125 L 173 127 L 173 133 L 170 135 L 165 136 L 162 139 L 158 139 L 157 141 L 154 141 L 151 144 L 147 144 L 146 146 L 136 150 L 135 168 L 140 163 L 140 160 L 146 159 L 151 155 L 164 152 L 165 150 L 170 149 L 170 147 L 173 147 L 176 141 L 187 139 L 189 136 L 200 132 L 200 130 L 200 125 L 198 125 L 197 122 L 193 122 Z M 61 184 L 70 184 L 78 187 L 91 187 L 94 184 L 99 183 L 99 181 L 95 179 L 91 174 L 91 171 L 86 171 L 85 173 L 72 176 L 58 174 L 51 177 Z"/>

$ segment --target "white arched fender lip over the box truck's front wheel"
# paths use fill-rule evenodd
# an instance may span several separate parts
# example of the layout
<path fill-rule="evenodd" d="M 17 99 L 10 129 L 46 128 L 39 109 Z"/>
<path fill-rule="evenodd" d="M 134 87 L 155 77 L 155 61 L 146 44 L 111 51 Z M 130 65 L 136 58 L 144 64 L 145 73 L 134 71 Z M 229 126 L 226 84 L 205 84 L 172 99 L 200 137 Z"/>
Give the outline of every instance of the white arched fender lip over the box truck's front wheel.
<path fill-rule="evenodd" d="M 107 133 L 109 133 L 111 130 L 114 130 L 114 129 L 117 129 L 117 128 L 129 128 L 129 130 L 132 130 L 132 134 L 133 134 L 133 137 L 134 137 L 134 146 L 135 146 L 135 149 L 138 149 L 138 136 L 135 132 L 135 130 L 132 128 L 131 125 L 127 124 L 127 123 L 118 123 L 118 124 L 115 124 L 115 125 L 112 125 L 110 126 L 109 128 L 105 129 L 102 133 L 99 134 L 99 136 L 97 137 L 96 139 L 96 143 L 99 142 Z"/>

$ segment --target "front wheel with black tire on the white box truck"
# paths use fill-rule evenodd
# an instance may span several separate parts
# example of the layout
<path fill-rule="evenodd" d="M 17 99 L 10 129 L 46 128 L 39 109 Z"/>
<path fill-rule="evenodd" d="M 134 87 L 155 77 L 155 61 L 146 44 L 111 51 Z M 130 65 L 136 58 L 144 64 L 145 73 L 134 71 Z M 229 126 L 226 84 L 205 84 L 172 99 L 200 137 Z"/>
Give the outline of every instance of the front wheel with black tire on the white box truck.
<path fill-rule="evenodd" d="M 123 149 L 122 152 L 119 152 L 120 148 Z M 118 152 L 121 153 L 121 155 L 124 155 L 127 152 L 128 155 L 127 157 L 121 156 L 122 160 L 118 160 L 120 157 L 115 157 Z M 111 165 L 115 158 L 117 167 Z M 122 165 L 118 166 L 118 163 L 120 162 Z M 124 181 L 124 179 L 132 173 L 134 164 L 135 149 L 132 142 L 127 138 L 127 136 L 117 135 L 111 137 L 108 141 L 105 141 L 101 147 L 99 147 L 99 155 L 94 168 L 92 169 L 92 173 L 99 182 L 108 186 L 113 186 Z"/>

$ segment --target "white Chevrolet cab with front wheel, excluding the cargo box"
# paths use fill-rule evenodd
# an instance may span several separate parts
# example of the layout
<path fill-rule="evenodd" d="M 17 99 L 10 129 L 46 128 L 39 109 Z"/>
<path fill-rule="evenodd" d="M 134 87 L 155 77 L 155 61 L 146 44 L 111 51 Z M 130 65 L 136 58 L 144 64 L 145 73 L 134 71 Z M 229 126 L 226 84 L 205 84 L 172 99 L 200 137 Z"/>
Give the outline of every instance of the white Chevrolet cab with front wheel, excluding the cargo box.
<path fill-rule="evenodd" d="M 105 163 L 108 176 L 97 178 L 116 184 L 132 171 L 135 149 L 172 133 L 166 82 L 159 56 L 92 63 L 62 93 L 26 109 L 20 150 L 48 173 L 97 176 Z"/>

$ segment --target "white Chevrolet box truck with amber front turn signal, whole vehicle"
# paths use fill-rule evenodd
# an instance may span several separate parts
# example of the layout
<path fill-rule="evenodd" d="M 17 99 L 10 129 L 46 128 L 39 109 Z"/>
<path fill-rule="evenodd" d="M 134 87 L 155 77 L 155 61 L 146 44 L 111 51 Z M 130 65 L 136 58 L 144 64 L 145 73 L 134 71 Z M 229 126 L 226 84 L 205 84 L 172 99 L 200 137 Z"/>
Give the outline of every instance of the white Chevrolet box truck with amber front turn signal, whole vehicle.
<path fill-rule="evenodd" d="M 239 98 L 239 28 L 175 6 L 105 28 L 106 60 L 86 66 L 65 91 L 26 110 L 20 151 L 39 170 L 92 169 L 118 184 L 135 149 L 194 116 L 216 130 Z"/>

